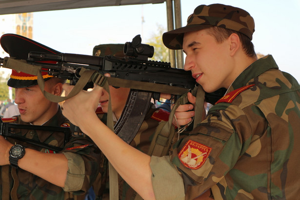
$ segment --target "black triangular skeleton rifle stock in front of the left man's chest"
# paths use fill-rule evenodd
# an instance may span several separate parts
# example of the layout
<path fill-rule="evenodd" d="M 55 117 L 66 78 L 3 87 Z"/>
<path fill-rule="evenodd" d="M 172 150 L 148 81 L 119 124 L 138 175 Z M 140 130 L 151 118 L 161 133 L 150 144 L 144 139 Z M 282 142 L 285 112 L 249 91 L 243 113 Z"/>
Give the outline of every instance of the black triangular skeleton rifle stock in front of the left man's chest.
<path fill-rule="evenodd" d="M 54 131 L 54 132 L 61 132 L 64 134 L 63 146 L 69 141 L 70 136 L 70 128 L 69 127 L 55 127 L 55 126 L 38 126 L 38 125 L 26 125 L 26 124 L 14 124 L 14 123 L 7 123 L 3 122 L 0 119 L 0 136 L 3 136 L 5 139 L 7 137 L 13 138 L 16 140 L 24 141 L 41 148 L 46 148 L 55 152 L 61 151 L 63 148 L 53 146 L 50 144 L 45 144 L 40 141 L 31 140 L 29 138 L 23 137 L 16 133 L 15 129 L 29 129 L 29 130 L 46 130 L 46 131 Z"/>

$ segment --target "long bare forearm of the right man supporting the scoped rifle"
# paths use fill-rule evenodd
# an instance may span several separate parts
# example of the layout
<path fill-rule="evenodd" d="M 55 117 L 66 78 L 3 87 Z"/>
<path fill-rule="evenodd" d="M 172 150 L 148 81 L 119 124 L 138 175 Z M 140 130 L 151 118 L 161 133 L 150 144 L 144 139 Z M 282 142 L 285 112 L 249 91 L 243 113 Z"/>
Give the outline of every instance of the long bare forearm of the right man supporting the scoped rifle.
<path fill-rule="evenodd" d="M 155 199 L 148 155 L 121 140 L 96 115 L 91 115 L 79 125 L 80 129 L 99 146 L 120 176 L 143 199 Z"/>

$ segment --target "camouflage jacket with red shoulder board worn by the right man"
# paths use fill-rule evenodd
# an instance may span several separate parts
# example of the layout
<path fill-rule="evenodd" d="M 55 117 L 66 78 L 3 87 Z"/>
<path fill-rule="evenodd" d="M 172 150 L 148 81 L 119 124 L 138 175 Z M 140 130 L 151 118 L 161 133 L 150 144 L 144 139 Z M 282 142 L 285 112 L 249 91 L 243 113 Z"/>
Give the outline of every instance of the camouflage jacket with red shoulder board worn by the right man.
<path fill-rule="evenodd" d="M 255 61 L 173 146 L 170 159 L 151 158 L 157 199 L 192 200 L 208 188 L 216 200 L 298 199 L 299 121 L 298 81 L 271 55 Z M 162 167 L 168 175 L 159 176 Z M 177 176 L 172 187 L 178 189 L 160 192 L 167 184 L 163 176 Z"/>

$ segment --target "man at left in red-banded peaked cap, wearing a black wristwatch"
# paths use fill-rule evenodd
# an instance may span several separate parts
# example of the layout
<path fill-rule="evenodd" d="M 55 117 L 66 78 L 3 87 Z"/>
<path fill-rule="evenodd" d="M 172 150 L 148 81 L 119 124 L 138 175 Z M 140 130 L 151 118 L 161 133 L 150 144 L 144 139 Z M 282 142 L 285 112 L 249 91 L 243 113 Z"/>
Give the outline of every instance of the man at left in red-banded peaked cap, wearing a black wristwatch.
<path fill-rule="evenodd" d="M 29 51 L 56 52 L 33 40 L 17 35 L 4 35 L 0 43 L 10 56 L 26 59 Z M 20 44 L 22 43 L 22 45 Z M 19 48 L 19 45 L 22 48 Z M 60 96 L 64 80 L 43 73 L 45 91 Z M 12 71 L 8 86 L 16 88 L 15 102 L 20 115 L 4 122 L 33 124 L 53 127 L 69 127 L 70 122 L 61 113 L 58 103 L 47 100 L 39 86 L 37 77 Z M 88 137 L 71 135 L 64 142 L 62 132 L 50 130 L 14 129 L 12 133 L 31 140 L 42 142 L 45 147 L 0 136 L 0 199 L 37 199 L 37 200 L 83 200 L 98 175 L 99 149 Z M 16 145 L 17 144 L 17 145 Z M 59 152 L 51 146 L 60 147 Z M 18 149 L 18 148 L 19 149 Z M 17 149 L 15 149 L 17 148 Z M 12 159 L 10 149 L 18 153 Z"/>

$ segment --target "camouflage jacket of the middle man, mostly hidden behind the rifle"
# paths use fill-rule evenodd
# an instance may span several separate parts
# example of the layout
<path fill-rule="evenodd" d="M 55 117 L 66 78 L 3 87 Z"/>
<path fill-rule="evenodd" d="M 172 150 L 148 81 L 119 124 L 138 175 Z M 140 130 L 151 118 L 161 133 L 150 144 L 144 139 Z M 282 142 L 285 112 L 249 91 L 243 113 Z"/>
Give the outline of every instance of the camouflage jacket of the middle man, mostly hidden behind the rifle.
<path fill-rule="evenodd" d="M 98 117 L 103 122 L 105 122 L 107 114 L 103 113 L 101 109 L 98 109 L 97 113 Z M 148 110 L 145 119 L 140 126 L 140 129 L 130 145 L 135 147 L 136 149 L 139 149 L 141 152 L 148 154 L 148 150 L 156 127 L 158 126 L 160 121 L 167 121 L 168 117 L 169 112 L 155 108 L 155 105 L 151 103 L 151 107 Z M 95 181 L 94 184 L 94 189 L 97 194 L 96 200 L 109 200 L 108 160 L 106 158 L 105 160 L 103 160 L 102 166 L 100 166 L 100 171 L 101 174 L 99 176 L 99 179 Z M 119 199 L 134 200 L 135 196 L 136 192 L 119 175 Z"/>

